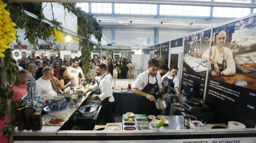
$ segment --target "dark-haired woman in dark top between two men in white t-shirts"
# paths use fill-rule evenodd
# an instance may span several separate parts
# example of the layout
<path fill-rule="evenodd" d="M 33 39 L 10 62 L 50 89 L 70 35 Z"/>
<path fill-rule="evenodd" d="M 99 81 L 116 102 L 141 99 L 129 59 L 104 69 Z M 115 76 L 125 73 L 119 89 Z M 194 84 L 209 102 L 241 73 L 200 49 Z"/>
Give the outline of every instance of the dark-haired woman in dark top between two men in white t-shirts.
<path fill-rule="evenodd" d="M 61 67 L 57 75 L 58 81 L 60 81 L 61 90 L 65 90 L 71 84 L 71 82 L 67 82 L 66 77 L 67 77 L 67 68 Z"/>

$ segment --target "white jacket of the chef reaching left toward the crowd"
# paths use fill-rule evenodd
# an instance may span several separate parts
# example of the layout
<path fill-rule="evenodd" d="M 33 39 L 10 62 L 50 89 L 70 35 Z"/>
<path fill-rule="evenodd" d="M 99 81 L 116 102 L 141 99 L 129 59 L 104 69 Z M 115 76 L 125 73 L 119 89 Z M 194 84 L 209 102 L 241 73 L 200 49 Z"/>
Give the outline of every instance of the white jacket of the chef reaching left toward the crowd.
<path fill-rule="evenodd" d="M 106 75 L 106 73 L 104 74 Z M 110 81 L 110 78 L 108 78 L 108 75 L 104 76 L 102 75 L 100 78 L 99 85 L 96 83 L 91 87 L 93 91 L 100 90 L 101 94 L 99 94 L 99 99 L 103 101 L 105 98 L 110 97 L 108 100 L 109 102 L 114 102 L 113 92 L 112 92 L 112 82 Z M 104 78 L 102 78 L 104 77 Z"/>

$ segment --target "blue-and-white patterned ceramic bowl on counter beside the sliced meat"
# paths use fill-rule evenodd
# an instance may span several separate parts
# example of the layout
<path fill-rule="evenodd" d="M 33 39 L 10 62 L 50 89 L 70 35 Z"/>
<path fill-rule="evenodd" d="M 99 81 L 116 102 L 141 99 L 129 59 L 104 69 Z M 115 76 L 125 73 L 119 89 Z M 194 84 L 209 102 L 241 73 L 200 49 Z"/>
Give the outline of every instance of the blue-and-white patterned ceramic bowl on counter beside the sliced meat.
<path fill-rule="evenodd" d="M 51 111 L 58 111 L 64 108 L 66 99 L 63 96 L 54 96 L 50 99 L 48 105 Z"/>

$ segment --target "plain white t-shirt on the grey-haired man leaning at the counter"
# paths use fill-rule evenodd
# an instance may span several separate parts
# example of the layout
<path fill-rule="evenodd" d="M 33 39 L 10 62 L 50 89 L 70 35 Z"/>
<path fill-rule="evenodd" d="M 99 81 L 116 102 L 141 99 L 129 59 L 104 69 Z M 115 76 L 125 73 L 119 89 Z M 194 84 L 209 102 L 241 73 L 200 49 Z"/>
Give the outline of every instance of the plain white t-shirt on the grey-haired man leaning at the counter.
<path fill-rule="evenodd" d="M 45 99 L 51 99 L 51 97 L 57 96 L 57 92 L 52 88 L 51 81 L 46 81 L 42 78 L 37 79 L 36 81 L 36 91 L 37 93 L 43 94 Z"/>

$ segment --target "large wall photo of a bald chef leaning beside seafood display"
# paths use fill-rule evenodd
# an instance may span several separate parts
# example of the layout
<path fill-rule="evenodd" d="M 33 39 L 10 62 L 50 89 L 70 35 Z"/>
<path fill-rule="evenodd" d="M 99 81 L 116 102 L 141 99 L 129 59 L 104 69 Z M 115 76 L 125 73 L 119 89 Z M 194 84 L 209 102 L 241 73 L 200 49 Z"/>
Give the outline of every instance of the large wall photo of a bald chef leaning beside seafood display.
<path fill-rule="evenodd" d="M 256 90 L 255 64 L 255 16 L 213 29 L 209 78 Z"/>

